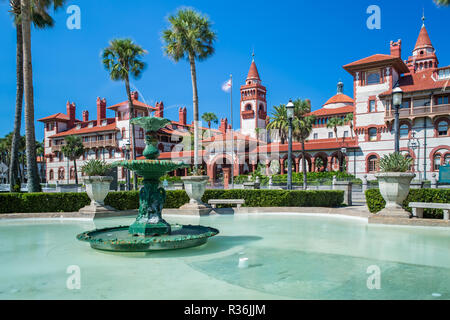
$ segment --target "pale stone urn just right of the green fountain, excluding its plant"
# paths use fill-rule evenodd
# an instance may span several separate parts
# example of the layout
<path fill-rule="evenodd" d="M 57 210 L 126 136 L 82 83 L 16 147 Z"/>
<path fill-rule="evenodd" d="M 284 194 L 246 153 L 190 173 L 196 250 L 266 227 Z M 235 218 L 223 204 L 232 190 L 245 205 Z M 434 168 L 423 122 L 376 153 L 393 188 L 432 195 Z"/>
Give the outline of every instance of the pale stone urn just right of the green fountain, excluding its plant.
<path fill-rule="evenodd" d="M 202 197 L 205 193 L 209 177 L 187 176 L 181 177 L 181 180 L 184 183 L 184 190 L 189 196 L 189 203 L 180 208 L 184 210 L 183 213 L 200 216 L 208 215 L 211 212 L 211 207 L 202 202 Z"/>

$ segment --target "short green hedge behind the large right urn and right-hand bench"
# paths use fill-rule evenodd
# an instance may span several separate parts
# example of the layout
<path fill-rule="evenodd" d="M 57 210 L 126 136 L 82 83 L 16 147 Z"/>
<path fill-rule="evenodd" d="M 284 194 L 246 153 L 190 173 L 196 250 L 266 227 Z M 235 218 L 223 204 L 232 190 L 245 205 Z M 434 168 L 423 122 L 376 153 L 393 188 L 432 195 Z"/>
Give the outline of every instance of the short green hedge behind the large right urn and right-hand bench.
<path fill-rule="evenodd" d="M 408 197 L 403 201 L 403 208 L 412 212 L 412 209 L 408 207 L 410 202 L 450 203 L 450 189 L 411 189 Z M 386 201 L 379 189 L 366 190 L 366 203 L 372 213 L 377 213 L 386 206 Z M 443 212 L 441 209 L 425 209 L 423 216 L 424 218 L 442 219 Z"/>

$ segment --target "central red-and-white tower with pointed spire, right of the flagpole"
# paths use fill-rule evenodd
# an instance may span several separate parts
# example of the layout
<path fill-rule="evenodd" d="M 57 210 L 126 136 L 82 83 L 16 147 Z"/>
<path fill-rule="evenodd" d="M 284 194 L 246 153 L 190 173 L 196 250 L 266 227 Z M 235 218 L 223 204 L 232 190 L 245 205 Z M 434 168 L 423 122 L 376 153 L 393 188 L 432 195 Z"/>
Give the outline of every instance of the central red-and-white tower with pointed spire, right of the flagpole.
<path fill-rule="evenodd" d="M 261 85 L 255 60 L 252 59 L 245 85 L 241 86 L 241 133 L 256 138 L 255 129 L 266 128 L 266 93 L 266 87 Z"/>

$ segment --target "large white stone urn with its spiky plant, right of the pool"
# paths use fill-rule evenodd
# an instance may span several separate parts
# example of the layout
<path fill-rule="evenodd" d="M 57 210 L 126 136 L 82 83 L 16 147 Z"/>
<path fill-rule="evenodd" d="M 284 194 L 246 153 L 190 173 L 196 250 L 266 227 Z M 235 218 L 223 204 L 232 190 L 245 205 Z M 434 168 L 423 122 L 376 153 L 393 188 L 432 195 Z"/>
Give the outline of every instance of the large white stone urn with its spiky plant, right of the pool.
<path fill-rule="evenodd" d="M 407 172 L 412 159 L 401 153 L 394 152 L 380 159 L 381 172 L 376 173 L 380 193 L 386 201 L 386 207 L 379 212 L 382 216 L 396 216 L 409 218 L 410 214 L 402 208 L 402 203 L 409 193 L 411 180 L 415 173 Z"/>

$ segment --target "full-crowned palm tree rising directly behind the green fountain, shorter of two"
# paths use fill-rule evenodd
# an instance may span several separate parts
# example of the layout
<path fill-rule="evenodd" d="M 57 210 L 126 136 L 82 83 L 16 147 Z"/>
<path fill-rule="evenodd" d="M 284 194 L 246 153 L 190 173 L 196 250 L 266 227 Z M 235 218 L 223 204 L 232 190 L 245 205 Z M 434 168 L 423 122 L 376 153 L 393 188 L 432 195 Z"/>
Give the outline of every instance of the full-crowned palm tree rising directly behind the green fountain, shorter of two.
<path fill-rule="evenodd" d="M 130 114 L 129 132 L 132 160 L 136 159 L 136 140 L 134 124 L 131 122 L 135 114 L 133 100 L 131 99 L 130 76 L 138 79 L 142 75 L 146 65 L 141 59 L 146 53 L 147 51 L 131 39 L 114 39 L 109 42 L 109 47 L 103 50 L 103 65 L 108 70 L 111 80 L 125 82 Z M 137 189 L 136 173 L 134 173 L 133 181 L 134 187 Z"/>

